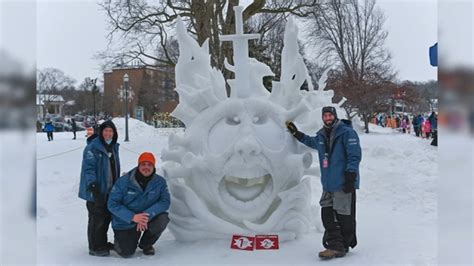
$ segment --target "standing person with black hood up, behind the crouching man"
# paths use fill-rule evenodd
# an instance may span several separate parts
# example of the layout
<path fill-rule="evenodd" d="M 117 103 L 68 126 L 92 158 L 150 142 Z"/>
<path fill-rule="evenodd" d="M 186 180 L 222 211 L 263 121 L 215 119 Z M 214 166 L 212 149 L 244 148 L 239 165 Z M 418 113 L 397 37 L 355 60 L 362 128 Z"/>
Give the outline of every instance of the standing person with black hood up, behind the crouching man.
<path fill-rule="evenodd" d="M 112 219 L 107 209 L 107 197 L 119 176 L 117 129 L 112 121 L 106 121 L 100 125 L 97 135 L 87 139 L 79 184 L 79 197 L 87 201 L 87 236 L 89 254 L 92 256 L 108 256 L 109 250 L 113 248 L 107 242 L 107 231 Z"/>

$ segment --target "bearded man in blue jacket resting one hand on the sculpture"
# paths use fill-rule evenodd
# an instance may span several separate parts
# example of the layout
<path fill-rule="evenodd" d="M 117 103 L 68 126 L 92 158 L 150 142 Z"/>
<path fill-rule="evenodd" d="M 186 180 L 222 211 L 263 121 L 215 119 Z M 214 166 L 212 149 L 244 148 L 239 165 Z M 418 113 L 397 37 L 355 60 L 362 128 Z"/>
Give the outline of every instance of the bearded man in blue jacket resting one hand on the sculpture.
<path fill-rule="evenodd" d="M 359 137 L 348 120 L 339 120 L 336 109 L 323 107 L 324 127 L 310 137 L 287 122 L 290 133 L 319 155 L 323 194 L 321 218 L 325 228 L 319 257 L 342 257 L 357 245 L 355 189 L 359 188 L 359 163 L 362 152 Z"/>

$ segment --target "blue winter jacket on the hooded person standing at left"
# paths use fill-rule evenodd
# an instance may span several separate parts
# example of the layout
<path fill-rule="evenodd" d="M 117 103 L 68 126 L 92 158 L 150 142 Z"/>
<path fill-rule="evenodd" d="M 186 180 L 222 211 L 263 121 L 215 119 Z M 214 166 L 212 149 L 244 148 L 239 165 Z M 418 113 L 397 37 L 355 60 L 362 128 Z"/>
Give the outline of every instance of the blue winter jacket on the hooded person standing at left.
<path fill-rule="evenodd" d="M 117 176 L 120 173 L 119 145 L 118 143 L 113 145 Z M 80 198 L 94 201 L 94 196 L 89 190 L 89 186 L 94 182 L 97 182 L 101 194 L 107 195 L 112 189 L 113 177 L 110 161 L 100 137 L 93 140 L 89 139 L 82 155 L 81 181 L 79 183 Z"/>

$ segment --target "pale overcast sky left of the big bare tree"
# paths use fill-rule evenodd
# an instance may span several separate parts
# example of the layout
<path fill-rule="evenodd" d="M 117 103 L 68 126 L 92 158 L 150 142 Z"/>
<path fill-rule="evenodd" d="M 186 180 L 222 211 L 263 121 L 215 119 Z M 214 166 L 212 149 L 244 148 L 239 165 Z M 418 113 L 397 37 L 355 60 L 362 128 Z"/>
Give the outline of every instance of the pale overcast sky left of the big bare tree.
<path fill-rule="evenodd" d="M 107 47 L 105 13 L 94 0 L 40 0 L 37 67 L 55 67 L 82 82 L 102 77 L 93 56 Z"/>

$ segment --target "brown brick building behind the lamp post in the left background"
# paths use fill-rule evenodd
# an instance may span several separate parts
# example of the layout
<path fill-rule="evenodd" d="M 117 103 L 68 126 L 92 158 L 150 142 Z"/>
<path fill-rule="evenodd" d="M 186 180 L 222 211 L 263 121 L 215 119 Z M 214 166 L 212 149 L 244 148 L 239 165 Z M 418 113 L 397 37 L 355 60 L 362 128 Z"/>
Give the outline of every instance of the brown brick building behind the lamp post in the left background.
<path fill-rule="evenodd" d="M 178 105 L 174 91 L 174 68 L 152 68 L 141 65 L 115 67 L 104 73 L 103 109 L 112 116 L 123 116 L 125 103 L 121 99 L 123 76 L 129 76 L 128 112 L 136 118 L 136 108 L 144 109 L 145 121 L 155 112 L 172 112 Z M 123 92 L 122 92 L 123 93 Z"/>

